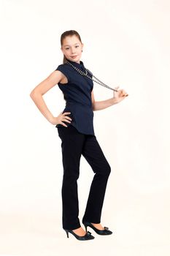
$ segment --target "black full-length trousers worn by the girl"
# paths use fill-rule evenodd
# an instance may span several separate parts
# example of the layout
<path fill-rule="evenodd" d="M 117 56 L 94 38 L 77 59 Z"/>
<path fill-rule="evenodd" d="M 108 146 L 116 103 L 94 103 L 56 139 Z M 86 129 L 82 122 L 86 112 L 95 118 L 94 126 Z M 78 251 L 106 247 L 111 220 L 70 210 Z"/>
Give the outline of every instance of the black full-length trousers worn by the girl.
<path fill-rule="evenodd" d="M 80 227 L 77 179 L 80 176 L 80 157 L 85 157 L 95 175 L 90 186 L 87 206 L 82 221 L 101 222 L 101 209 L 111 167 L 95 135 L 84 135 L 72 125 L 58 127 L 63 162 L 62 222 L 64 229 Z"/>

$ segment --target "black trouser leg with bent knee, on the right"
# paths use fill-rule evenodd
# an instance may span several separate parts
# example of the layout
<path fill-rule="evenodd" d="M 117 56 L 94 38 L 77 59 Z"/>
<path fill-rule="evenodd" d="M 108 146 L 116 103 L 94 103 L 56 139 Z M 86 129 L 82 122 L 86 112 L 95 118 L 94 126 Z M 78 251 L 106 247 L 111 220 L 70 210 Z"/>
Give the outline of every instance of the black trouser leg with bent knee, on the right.
<path fill-rule="evenodd" d="M 101 209 L 104 203 L 107 181 L 111 167 L 104 156 L 96 136 L 88 136 L 82 148 L 82 155 L 88 161 L 95 175 L 90 186 L 87 206 L 82 222 L 101 222 Z"/>

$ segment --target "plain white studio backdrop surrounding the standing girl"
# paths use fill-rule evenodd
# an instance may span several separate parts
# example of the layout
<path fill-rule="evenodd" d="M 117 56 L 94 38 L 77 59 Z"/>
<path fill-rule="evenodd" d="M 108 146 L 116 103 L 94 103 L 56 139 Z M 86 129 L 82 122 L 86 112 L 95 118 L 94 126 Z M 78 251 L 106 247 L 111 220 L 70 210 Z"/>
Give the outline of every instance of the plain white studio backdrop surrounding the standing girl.
<path fill-rule="evenodd" d="M 0 0 L 0 255 L 170 253 L 168 0 Z M 29 96 L 63 62 L 60 38 L 76 30 L 85 67 L 129 94 L 94 112 L 98 143 L 112 168 L 101 225 L 112 236 L 78 241 L 62 229 L 63 166 L 58 131 Z M 113 92 L 94 83 L 96 101 Z M 58 116 L 56 85 L 44 95 Z M 80 222 L 93 179 L 81 158 Z M 84 227 L 82 225 L 82 227 Z"/>

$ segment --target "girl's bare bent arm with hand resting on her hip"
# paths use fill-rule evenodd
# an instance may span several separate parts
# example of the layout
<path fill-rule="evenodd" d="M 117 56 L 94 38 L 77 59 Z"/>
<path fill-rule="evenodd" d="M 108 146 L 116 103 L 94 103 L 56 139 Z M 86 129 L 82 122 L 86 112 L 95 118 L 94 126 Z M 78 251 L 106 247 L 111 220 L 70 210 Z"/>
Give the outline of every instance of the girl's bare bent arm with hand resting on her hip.
<path fill-rule="evenodd" d="M 34 101 L 36 107 L 39 108 L 39 111 L 42 113 L 42 115 L 47 118 L 47 121 L 50 121 L 51 124 L 63 124 L 63 126 L 66 127 L 66 124 L 64 124 L 62 121 L 68 121 L 68 119 L 70 120 L 71 118 L 69 118 L 69 116 L 65 116 L 66 112 L 62 115 L 60 114 L 58 117 L 54 117 L 50 110 L 47 108 L 45 100 L 42 97 L 47 91 L 53 88 L 53 86 L 58 84 L 58 82 L 60 82 L 63 77 L 63 73 L 59 70 L 53 71 L 45 80 L 39 83 L 31 91 L 30 97 Z"/>

